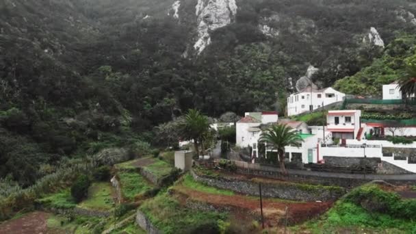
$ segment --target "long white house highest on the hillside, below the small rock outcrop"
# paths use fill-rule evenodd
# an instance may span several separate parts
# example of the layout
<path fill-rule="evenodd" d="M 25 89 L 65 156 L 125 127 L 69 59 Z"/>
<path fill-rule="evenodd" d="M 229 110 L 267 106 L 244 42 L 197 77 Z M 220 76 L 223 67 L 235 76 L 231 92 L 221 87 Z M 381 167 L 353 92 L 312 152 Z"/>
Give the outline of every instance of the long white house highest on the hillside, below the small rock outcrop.
<path fill-rule="evenodd" d="M 287 98 L 287 115 L 294 116 L 332 103 L 337 103 L 343 101 L 345 96 L 346 94 L 330 87 L 317 90 L 309 86 L 300 90 L 300 92 L 291 94 Z"/>

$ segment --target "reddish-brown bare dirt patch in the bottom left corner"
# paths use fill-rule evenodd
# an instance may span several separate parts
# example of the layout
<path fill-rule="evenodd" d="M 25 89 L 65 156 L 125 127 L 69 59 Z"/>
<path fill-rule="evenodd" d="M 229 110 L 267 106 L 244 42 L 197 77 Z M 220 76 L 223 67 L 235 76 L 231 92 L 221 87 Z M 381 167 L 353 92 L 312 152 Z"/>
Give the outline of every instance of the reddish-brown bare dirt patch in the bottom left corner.
<path fill-rule="evenodd" d="M 34 211 L 21 218 L 0 224 L 0 234 L 40 234 L 47 233 L 49 213 Z"/>

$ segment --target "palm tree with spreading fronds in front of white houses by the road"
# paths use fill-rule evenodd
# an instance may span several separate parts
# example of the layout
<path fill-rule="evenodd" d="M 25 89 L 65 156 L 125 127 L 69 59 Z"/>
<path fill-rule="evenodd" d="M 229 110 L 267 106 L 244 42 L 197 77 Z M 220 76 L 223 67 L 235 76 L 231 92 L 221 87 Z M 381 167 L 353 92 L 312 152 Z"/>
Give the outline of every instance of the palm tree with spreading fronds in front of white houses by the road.
<path fill-rule="evenodd" d="M 285 146 L 302 146 L 302 138 L 298 132 L 287 125 L 273 125 L 270 129 L 261 133 L 260 142 L 265 142 L 272 146 L 272 150 L 277 150 L 278 161 L 283 174 L 287 174 L 285 168 Z"/>

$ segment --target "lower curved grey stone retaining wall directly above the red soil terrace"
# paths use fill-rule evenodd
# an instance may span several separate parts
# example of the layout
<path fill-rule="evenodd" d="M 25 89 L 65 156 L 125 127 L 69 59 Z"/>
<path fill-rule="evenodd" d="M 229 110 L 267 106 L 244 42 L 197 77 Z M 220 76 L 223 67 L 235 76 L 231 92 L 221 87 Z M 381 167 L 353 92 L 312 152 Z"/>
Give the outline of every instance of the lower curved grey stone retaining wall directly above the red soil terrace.
<path fill-rule="evenodd" d="M 241 194 L 259 196 L 259 183 L 240 179 L 198 175 L 193 170 L 191 170 L 191 174 L 196 181 L 205 183 L 209 186 L 232 190 Z M 322 185 L 304 185 L 284 182 L 262 183 L 261 190 L 264 197 L 302 201 L 337 200 L 337 198 L 346 192 L 341 187 L 325 187 Z"/>

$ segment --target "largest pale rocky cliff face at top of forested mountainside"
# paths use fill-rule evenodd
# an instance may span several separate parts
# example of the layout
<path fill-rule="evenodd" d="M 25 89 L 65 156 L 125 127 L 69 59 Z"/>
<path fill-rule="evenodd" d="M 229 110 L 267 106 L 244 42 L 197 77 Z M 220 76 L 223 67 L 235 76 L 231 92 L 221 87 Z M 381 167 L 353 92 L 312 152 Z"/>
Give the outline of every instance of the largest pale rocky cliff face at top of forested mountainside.
<path fill-rule="evenodd" d="M 237 4 L 235 0 L 198 0 L 195 14 L 198 17 L 198 39 L 194 49 L 200 54 L 211 44 L 209 33 L 233 21 Z"/>

